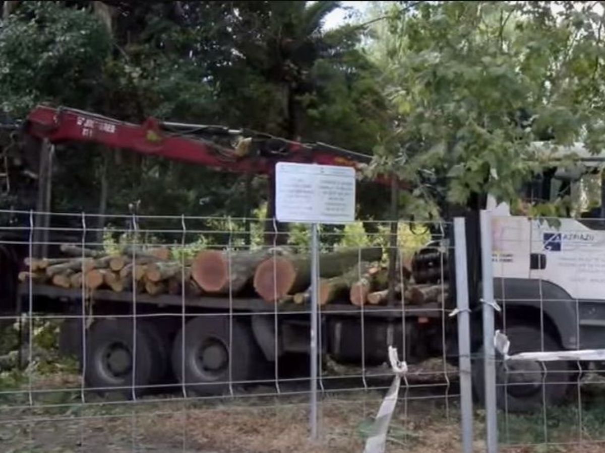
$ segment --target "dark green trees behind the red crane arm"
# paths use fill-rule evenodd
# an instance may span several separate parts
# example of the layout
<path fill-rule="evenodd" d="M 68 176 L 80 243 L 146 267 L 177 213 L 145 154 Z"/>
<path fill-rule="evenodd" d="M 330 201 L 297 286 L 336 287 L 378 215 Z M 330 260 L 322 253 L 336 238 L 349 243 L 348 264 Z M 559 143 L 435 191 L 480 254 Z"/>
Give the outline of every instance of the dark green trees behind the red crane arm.
<path fill-rule="evenodd" d="M 0 111 L 24 117 L 48 101 L 128 121 L 226 124 L 371 152 L 386 127 L 384 101 L 358 46 L 362 30 L 322 30 L 337 7 L 20 2 L 0 22 Z M 55 210 L 123 212 L 139 200 L 146 214 L 244 216 L 266 200 L 258 178 L 250 190 L 238 176 L 107 152 L 57 150 Z M 105 202 L 102 181 L 110 182 Z"/>

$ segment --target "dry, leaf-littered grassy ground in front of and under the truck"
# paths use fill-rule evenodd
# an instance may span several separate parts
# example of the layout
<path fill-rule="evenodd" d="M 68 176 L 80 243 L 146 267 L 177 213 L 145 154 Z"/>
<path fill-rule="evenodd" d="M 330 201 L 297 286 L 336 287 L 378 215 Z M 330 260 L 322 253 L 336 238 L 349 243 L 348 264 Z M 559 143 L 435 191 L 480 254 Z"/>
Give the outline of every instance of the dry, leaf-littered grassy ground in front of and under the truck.
<path fill-rule="evenodd" d="M 33 407 L 27 394 L 7 399 L 0 392 L 1 452 L 362 452 L 385 393 L 342 389 L 324 394 L 318 413 L 319 439 L 311 442 L 306 394 L 183 400 L 175 392 L 136 402 L 87 396 L 82 404 L 77 376 L 57 375 L 34 385 L 56 391 L 34 397 Z M 456 386 L 444 389 L 424 382 L 419 387 L 400 391 L 387 452 L 460 452 Z M 74 390 L 59 391 L 66 388 Z M 588 404 L 570 402 L 549 409 L 548 426 L 542 414 L 509 415 L 508 425 L 503 426 L 505 417 L 500 414 L 500 452 L 605 453 L 605 382 L 591 388 L 590 393 L 583 390 Z M 485 451 L 483 419 L 477 410 L 477 453 Z"/>

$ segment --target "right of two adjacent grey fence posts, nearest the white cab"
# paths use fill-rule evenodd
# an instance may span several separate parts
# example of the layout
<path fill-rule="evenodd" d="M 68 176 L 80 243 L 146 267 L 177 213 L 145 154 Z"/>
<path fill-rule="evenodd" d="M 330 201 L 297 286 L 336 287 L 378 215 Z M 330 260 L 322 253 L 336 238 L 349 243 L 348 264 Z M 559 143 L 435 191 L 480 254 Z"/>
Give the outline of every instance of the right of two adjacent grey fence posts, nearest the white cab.
<path fill-rule="evenodd" d="M 498 451 L 497 403 L 495 395 L 494 353 L 494 276 L 492 272 L 491 213 L 482 210 L 481 222 L 481 275 L 483 287 L 483 364 L 485 371 L 485 417 L 487 451 Z"/>

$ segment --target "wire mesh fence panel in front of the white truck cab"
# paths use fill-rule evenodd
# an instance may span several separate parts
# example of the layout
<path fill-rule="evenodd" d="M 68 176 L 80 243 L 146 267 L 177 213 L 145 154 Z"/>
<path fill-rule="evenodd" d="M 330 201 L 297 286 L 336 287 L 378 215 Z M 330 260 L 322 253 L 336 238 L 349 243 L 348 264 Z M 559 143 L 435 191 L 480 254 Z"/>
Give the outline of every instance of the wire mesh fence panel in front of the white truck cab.
<path fill-rule="evenodd" d="M 509 341 L 495 356 L 500 451 L 605 451 L 603 225 L 492 217 L 495 328 Z"/>

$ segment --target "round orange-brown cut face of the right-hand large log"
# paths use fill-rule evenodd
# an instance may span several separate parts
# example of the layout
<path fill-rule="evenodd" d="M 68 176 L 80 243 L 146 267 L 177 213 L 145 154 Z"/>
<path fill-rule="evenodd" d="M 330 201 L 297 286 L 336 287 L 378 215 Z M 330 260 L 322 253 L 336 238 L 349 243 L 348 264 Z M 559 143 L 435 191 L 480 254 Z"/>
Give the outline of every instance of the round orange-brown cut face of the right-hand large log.
<path fill-rule="evenodd" d="M 290 260 L 272 257 L 258 265 L 254 274 L 254 289 L 267 302 L 286 297 L 296 279 L 296 270 Z"/>

